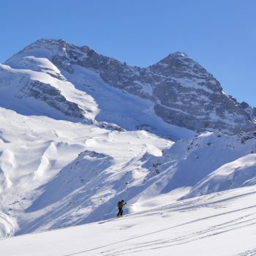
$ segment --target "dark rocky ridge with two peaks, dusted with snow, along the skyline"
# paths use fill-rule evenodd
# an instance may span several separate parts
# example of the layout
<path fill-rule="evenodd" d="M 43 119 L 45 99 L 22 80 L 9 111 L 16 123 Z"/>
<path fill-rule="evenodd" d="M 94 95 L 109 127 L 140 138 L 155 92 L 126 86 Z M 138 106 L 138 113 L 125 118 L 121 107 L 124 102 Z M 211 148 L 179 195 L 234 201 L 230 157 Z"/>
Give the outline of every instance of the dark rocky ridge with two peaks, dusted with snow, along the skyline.
<path fill-rule="evenodd" d="M 6 64 L 13 66 L 20 55 L 48 58 L 70 74 L 74 72 L 72 65 L 91 69 L 110 86 L 154 102 L 155 113 L 168 124 L 231 134 L 255 129 L 256 110 L 227 96 L 214 76 L 185 53 L 173 53 L 151 67 L 140 68 L 102 56 L 87 46 L 40 39 Z"/>

